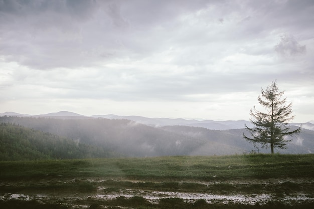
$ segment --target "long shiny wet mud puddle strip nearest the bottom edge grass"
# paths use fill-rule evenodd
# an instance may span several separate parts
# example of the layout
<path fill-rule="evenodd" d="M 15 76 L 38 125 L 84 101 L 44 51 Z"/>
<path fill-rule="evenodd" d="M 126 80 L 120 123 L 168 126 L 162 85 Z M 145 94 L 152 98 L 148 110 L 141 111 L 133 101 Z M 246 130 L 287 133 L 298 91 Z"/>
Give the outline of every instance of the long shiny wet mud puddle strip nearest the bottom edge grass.
<path fill-rule="evenodd" d="M 204 194 L 204 193 L 183 193 L 183 192 L 163 192 L 163 191 L 139 191 L 139 190 L 124 190 L 123 192 L 117 192 L 113 194 L 97 194 L 92 196 L 84 196 L 84 197 L 59 197 L 60 199 L 67 200 L 85 200 L 85 199 L 102 199 L 102 200 L 111 200 L 118 197 L 131 198 L 134 196 L 140 196 L 145 198 L 151 203 L 158 203 L 160 199 L 163 198 L 180 198 L 185 202 L 195 202 L 199 199 L 204 199 L 207 203 L 223 203 L 228 204 L 232 203 L 241 203 L 241 204 L 251 204 L 254 205 L 256 203 L 266 204 L 269 201 L 277 200 L 281 202 L 302 202 L 302 201 L 314 201 L 314 198 L 307 197 L 306 194 L 298 194 L 297 196 L 283 196 L 283 197 L 275 197 L 269 194 L 250 194 L 250 195 L 215 195 L 215 194 Z M 45 195 L 34 195 L 29 196 L 25 194 L 11 194 L 6 193 L 0 195 L 0 200 L 7 201 L 10 199 L 24 200 L 29 201 L 32 199 L 36 200 L 49 200 L 49 199 L 58 199 L 56 196 L 45 196 Z"/>

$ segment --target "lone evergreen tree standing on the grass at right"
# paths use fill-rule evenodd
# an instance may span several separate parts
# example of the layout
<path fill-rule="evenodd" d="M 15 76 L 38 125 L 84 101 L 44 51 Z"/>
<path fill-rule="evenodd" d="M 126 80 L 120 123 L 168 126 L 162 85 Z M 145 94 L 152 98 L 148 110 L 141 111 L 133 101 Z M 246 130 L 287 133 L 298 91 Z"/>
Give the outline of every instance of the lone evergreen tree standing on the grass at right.
<path fill-rule="evenodd" d="M 257 111 L 254 106 L 254 111 L 250 110 L 250 115 L 253 117 L 250 121 L 254 128 L 249 128 L 245 124 L 245 129 L 252 135 L 247 137 L 243 133 L 243 138 L 254 144 L 259 143 L 262 148 L 271 147 L 271 153 L 274 153 L 274 148 L 286 149 L 286 143 L 291 141 L 285 136 L 301 132 L 301 127 L 296 130 L 291 130 L 288 122 L 294 118 L 291 116 L 292 103 L 286 105 L 286 99 L 281 99 L 284 91 L 279 92 L 276 81 L 272 82 L 265 90 L 262 88 L 262 94 L 258 96 L 258 102 L 267 110 L 267 113 Z"/>

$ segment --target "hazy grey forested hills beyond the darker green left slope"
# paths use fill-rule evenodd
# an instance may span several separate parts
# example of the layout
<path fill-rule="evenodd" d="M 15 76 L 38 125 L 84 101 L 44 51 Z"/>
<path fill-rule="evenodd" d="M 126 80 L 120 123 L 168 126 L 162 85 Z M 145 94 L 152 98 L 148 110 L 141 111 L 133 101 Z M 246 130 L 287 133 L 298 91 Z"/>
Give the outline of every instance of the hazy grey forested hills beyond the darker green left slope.
<path fill-rule="evenodd" d="M 80 117 L 80 116 L 78 116 Z M 75 144 L 98 147 L 107 157 L 228 155 L 251 151 L 269 153 L 242 138 L 244 129 L 210 130 L 192 126 L 152 127 L 126 119 L 1 117 L 5 124 L 50 133 Z M 27 135 L 27 134 L 26 134 Z M 303 129 L 280 153 L 314 152 L 314 131 Z"/>

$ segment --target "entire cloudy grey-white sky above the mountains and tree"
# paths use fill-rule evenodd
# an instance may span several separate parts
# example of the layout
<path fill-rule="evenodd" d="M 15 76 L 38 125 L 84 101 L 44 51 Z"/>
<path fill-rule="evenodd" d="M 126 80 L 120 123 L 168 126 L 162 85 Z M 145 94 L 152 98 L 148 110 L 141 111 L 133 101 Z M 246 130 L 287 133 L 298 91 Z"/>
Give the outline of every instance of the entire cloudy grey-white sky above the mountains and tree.
<path fill-rule="evenodd" d="M 314 120 L 314 1 L 0 0 L 0 113 Z M 260 109 L 263 111 L 263 109 Z"/>

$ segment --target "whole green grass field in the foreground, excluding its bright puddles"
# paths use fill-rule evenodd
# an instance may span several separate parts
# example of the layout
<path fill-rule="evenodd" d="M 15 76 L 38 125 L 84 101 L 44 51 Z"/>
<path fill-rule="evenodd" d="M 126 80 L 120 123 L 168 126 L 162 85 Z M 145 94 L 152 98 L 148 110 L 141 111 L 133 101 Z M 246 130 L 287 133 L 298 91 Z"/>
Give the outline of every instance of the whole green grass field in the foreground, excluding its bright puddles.
<path fill-rule="evenodd" d="M 69 197 L 73 194 L 78 198 L 76 204 L 89 208 L 239 208 L 242 205 L 241 202 L 202 199 L 189 202 L 166 196 L 152 203 L 145 197 L 153 192 L 241 194 L 245 197 L 269 194 L 273 198 L 260 204 L 259 208 L 276 208 L 278 205 L 281 208 L 308 208 L 314 203 L 314 155 L 6 161 L 0 162 L 0 180 L 2 196 L 24 194 L 32 197 L 32 201 L 2 198 L 1 208 L 19 208 L 20 204 L 24 205 L 21 208 L 50 204 L 55 208 L 73 208 L 74 200 Z M 126 194 L 130 191 L 138 193 L 129 197 Z M 38 201 L 34 197 L 37 194 L 47 198 Z M 93 195 L 116 195 L 116 198 L 87 198 Z M 296 198 L 299 195 L 304 195 L 305 200 L 281 201 L 287 196 Z M 252 204 L 242 206 L 256 207 Z"/>

